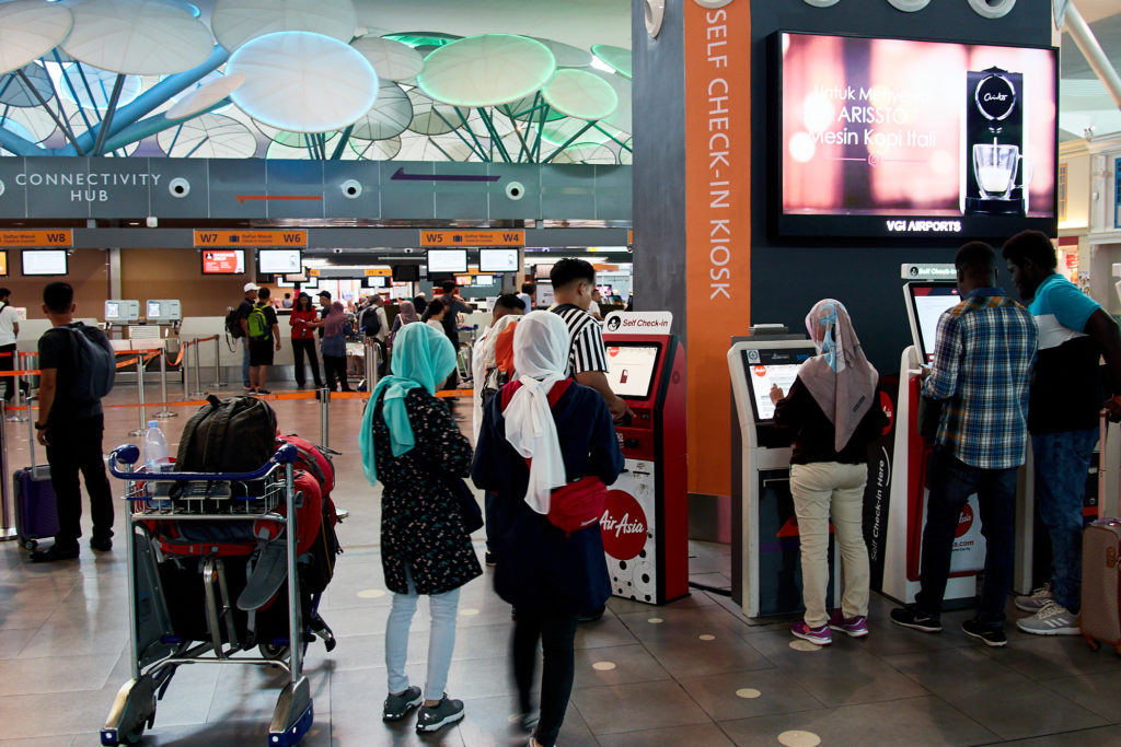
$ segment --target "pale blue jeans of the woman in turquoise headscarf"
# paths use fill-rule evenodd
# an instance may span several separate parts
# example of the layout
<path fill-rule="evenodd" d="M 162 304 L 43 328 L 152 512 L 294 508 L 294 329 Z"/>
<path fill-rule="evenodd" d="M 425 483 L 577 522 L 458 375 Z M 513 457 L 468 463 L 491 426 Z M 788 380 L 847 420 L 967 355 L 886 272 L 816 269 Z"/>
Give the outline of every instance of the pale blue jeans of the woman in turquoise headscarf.
<path fill-rule="evenodd" d="M 386 626 L 386 669 L 389 670 L 391 693 L 404 692 L 409 687 L 405 660 L 409 651 L 409 624 L 417 609 L 418 595 L 408 566 L 405 567 L 405 578 L 409 592 L 393 595 L 393 606 L 389 610 Z M 428 606 L 432 629 L 428 633 L 428 682 L 425 684 L 425 697 L 428 700 L 439 700 L 447 688 L 447 670 L 452 666 L 452 652 L 455 650 L 455 615 L 460 607 L 460 590 L 429 595 Z"/>

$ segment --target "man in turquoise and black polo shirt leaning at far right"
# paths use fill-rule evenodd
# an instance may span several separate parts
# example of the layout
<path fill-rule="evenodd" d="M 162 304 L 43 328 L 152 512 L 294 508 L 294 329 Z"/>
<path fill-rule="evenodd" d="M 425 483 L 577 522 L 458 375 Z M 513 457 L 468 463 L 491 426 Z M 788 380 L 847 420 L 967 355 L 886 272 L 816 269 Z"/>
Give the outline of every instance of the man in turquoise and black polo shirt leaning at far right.
<path fill-rule="evenodd" d="M 1102 408 L 1121 418 L 1121 338 L 1102 307 L 1055 272 L 1055 246 L 1045 234 L 1018 233 L 1001 254 L 1039 327 L 1028 430 L 1036 505 L 1051 543 L 1050 582 L 1017 597 L 1016 606 L 1034 614 L 1016 625 L 1036 635 L 1078 635 L 1086 475 Z M 1112 381 L 1110 400 L 1102 392 L 1101 356 Z"/>

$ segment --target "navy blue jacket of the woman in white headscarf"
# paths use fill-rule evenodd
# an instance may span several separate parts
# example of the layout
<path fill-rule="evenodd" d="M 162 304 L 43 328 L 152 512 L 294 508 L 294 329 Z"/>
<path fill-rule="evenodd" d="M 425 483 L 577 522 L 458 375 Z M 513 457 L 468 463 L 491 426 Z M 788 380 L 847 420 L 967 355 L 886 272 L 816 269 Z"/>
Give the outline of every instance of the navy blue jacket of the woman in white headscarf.
<path fill-rule="evenodd" d="M 605 485 L 623 468 L 611 413 L 594 389 L 572 384 L 553 408 L 568 482 L 597 475 Z M 483 413 L 471 477 L 498 497 L 490 536 L 498 555 L 494 590 L 518 609 L 580 614 L 611 596 L 600 524 L 571 536 L 526 503 L 529 468 L 506 440 L 502 398 Z"/>

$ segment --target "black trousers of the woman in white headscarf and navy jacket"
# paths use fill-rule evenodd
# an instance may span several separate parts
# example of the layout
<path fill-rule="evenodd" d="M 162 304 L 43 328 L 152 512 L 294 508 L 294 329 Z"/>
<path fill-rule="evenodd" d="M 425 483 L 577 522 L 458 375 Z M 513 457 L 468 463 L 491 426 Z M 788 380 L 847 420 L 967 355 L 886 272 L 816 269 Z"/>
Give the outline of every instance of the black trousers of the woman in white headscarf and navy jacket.
<path fill-rule="evenodd" d="M 518 707 L 522 713 L 532 710 L 529 691 L 534 688 L 537 664 L 537 642 L 541 642 L 541 709 L 534 738 L 544 747 L 553 747 L 560 732 L 564 713 L 572 695 L 575 675 L 577 616 L 568 613 L 544 613 L 519 609 L 513 625 L 513 680 L 518 684 Z"/>

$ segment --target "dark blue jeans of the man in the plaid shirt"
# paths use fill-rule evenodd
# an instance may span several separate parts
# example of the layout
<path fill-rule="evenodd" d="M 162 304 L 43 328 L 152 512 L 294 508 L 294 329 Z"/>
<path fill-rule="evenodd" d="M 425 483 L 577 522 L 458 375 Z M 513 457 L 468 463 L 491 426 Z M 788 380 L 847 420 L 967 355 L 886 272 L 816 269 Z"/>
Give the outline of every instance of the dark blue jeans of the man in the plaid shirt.
<path fill-rule="evenodd" d="M 949 449 L 935 447 L 928 470 L 930 496 L 926 506 L 919 567 L 923 588 L 915 596 L 915 604 L 921 613 L 933 616 L 942 613 L 957 520 L 970 495 L 976 493 L 981 533 L 986 544 L 984 592 L 978 619 L 985 625 L 1003 624 L 1004 603 L 1012 587 L 1017 469 L 971 467 Z"/>

